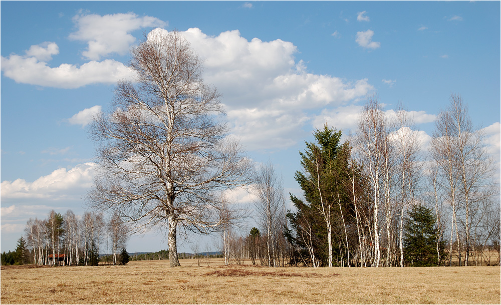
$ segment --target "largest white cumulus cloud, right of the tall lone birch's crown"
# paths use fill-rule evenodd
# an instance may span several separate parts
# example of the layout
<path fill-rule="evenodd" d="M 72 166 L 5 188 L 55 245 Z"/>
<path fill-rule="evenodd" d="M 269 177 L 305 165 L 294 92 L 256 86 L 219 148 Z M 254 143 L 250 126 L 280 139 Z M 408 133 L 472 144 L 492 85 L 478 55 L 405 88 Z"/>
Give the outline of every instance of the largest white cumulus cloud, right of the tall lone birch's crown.
<path fill-rule="evenodd" d="M 148 36 L 165 33 L 155 29 Z M 214 37 L 193 28 L 183 34 L 205 60 L 204 80 L 223 94 L 232 132 L 249 150 L 290 147 L 309 134 L 302 128 L 315 113 L 354 102 L 374 89 L 367 79 L 308 73 L 291 42 L 248 41 L 238 31 Z"/>

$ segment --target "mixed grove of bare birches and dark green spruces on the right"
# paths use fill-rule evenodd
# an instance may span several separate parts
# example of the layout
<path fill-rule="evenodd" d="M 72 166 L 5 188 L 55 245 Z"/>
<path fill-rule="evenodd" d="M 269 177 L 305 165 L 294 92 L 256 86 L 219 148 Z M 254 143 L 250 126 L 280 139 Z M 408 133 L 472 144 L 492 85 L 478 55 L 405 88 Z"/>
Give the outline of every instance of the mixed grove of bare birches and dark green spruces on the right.
<path fill-rule="evenodd" d="M 409 112 L 399 106 L 388 115 L 377 97 L 368 99 L 348 141 L 327 124 L 313 135 L 300 151 L 295 179 L 303 193 L 290 194 L 293 210 L 284 212 L 273 165 L 258 174 L 262 264 L 499 263 L 495 166 L 460 96 L 452 94 L 438 114 L 428 154 Z M 253 231 L 233 238 L 227 256 L 247 249 L 240 257 L 254 263 L 255 240 Z"/>

